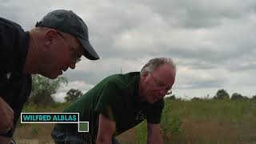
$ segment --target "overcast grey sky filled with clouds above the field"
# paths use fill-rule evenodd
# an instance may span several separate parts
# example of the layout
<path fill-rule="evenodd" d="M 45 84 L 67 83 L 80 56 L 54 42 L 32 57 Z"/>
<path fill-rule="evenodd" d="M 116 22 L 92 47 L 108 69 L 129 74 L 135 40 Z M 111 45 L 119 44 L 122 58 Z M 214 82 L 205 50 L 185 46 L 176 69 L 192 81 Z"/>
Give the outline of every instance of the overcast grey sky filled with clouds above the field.
<path fill-rule="evenodd" d="M 51 10 L 73 10 L 89 28 L 100 60 L 82 58 L 63 76 L 86 92 L 111 74 L 139 71 L 151 58 L 173 58 L 173 93 L 181 98 L 214 96 L 225 89 L 256 94 L 255 0 L 0 0 L 0 16 L 30 30 Z"/>

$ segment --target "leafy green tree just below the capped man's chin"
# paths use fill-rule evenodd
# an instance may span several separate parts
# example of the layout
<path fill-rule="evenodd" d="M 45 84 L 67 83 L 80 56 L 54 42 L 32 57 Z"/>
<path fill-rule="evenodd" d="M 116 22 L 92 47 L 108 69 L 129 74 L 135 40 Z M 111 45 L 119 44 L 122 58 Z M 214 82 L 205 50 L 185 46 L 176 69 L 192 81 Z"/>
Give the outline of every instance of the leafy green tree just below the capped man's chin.
<path fill-rule="evenodd" d="M 62 83 L 67 83 L 66 78 L 58 77 L 53 80 L 39 74 L 32 75 L 32 93 L 29 102 L 35 105 L 47 105 L 54 102 L 51 96 L 57 92 Z"/>

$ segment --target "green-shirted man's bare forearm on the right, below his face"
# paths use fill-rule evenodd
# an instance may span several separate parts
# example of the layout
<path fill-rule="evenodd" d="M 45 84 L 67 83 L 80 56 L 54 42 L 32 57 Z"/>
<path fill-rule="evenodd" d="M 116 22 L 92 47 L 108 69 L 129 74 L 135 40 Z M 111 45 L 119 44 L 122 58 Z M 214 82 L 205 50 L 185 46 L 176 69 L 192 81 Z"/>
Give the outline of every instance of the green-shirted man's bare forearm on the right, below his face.
<path fill-rule="evenodd" d="M 160 134 L 160 124 L 147 123 L 147 143 L 148 144 L 163 144 Z"/>

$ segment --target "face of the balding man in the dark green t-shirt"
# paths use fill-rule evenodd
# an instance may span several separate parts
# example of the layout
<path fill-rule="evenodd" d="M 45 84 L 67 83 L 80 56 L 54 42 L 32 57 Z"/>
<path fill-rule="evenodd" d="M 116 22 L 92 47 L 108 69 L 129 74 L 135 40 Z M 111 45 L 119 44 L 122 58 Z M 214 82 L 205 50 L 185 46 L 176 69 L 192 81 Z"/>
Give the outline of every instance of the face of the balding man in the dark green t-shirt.
<path fill-rule="evenodd" d="M 146 102 L 154 103 L 166 96 L 175 81 L 175 72 L 170 65 L 158 66 L 153 72 L 142 74 L 142 96 Z"/>

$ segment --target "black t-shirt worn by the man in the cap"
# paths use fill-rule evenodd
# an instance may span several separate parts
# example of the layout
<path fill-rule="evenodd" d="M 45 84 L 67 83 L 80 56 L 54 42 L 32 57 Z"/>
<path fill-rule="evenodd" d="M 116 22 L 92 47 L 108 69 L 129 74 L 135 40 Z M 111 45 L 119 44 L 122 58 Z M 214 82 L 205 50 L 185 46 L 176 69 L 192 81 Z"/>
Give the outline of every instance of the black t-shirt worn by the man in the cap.
<path fill-rule="evenodd" d="M 29 43 L 29 32 L 14 22 L 0 18 L 0 97 L 14 110 L 14 127 L 6 134 L 7 137 L 13 135 L 31 91 L 31 74 L 22 74 Z"/>

